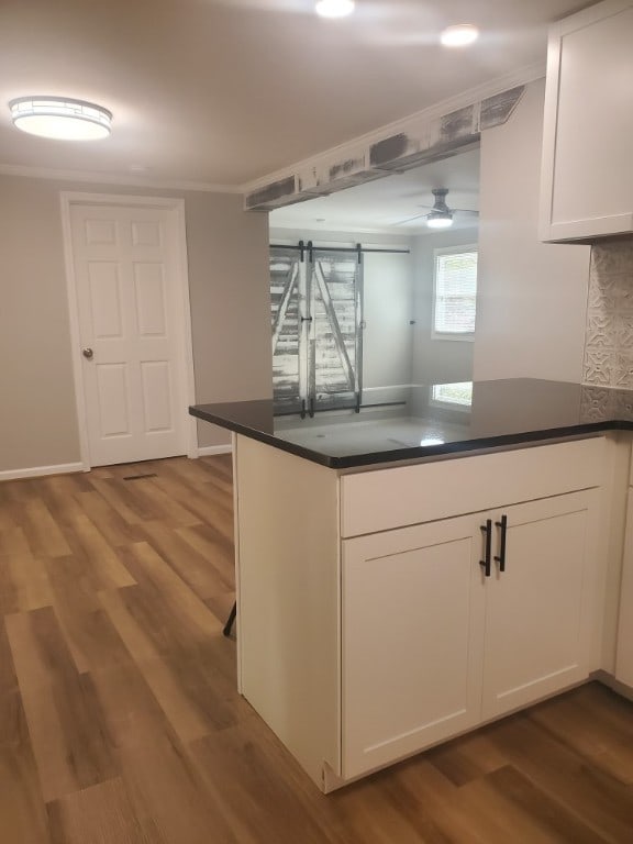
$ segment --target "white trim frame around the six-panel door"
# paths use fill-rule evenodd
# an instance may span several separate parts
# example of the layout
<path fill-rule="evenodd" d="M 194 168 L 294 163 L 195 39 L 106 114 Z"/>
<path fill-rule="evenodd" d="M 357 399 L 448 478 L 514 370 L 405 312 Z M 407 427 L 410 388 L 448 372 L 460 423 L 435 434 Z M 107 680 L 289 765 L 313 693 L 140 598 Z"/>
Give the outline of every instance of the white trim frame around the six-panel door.
<path fill-rule="evenodd" d="M 189 264 L 187 257 L 187 238 L 185 227 L 185 200 L 171 197 L 143 197 L 119 193 L 84 193 L 80 191 L 59 192 L 62 203 L 62 230 L 64 240 L 64 262 L 66 266 L 66 293 L 68 315 L 70 321 L 70 348 L 73 357 L 73 378 L 75 382 L 75 404 L 77 427 L 79 433 L 79 454 L 81 468 L 89 471 L 90 449 L 88 438 L 88 422 L 86 419 L 86 388 L 84 368 L 79 355 L 75 353 L 80 347 L 79 309 L 77 303 L 77 279 L 73 253 L 73 229 L 70 209 L 73 206 L 127 206 L 130 208 L 164 209 L 171 213 L 171 224 L 176 233 L 175 281 L 177 286 L 179 309 L 176 319 L 178 326 L 178 344 L 180 355 L 178 360 L 178 379 L 182 386 L 186 406 L 196 403 L 196 387 L 193 380 L 193 344 L 191 337 L 191 306 L 189 301 Z M 198 430 L 196 420 L 182 409 L 185 451 L 188 457 L 198 457 Z"/>

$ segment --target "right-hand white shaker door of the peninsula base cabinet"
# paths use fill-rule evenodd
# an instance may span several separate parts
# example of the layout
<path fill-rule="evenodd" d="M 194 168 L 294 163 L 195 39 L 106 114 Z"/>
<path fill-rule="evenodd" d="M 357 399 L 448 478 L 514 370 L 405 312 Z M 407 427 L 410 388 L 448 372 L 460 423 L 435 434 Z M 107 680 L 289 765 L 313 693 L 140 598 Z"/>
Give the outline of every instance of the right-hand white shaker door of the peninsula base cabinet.
<path fill-rule="evenodd" d="M 508 508 L 506 570 L 486 589 L 482 718 L 589 673 L 597 592 L 598 490 Z"/>

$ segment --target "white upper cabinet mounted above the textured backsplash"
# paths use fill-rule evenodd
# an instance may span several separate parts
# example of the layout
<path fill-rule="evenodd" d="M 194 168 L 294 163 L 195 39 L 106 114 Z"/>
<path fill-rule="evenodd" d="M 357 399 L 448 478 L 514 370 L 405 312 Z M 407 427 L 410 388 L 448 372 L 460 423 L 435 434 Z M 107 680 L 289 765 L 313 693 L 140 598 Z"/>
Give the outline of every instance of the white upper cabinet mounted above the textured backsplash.
<path fill-rule="evenodd" d="M 633 0 L 606 0 L 549 33 L 541 240 L 633 232 Z"/>

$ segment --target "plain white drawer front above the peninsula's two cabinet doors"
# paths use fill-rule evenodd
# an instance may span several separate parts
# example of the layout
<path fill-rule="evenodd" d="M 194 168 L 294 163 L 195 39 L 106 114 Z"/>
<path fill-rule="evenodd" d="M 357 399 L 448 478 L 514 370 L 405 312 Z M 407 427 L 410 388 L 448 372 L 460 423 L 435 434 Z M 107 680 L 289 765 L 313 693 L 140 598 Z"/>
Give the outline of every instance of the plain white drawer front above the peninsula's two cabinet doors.
<path fill-rule="evenodd" d="M 598 487 L 603 437 L 376 469 L 341 478 L 341 535 L 388 531 Z"/>

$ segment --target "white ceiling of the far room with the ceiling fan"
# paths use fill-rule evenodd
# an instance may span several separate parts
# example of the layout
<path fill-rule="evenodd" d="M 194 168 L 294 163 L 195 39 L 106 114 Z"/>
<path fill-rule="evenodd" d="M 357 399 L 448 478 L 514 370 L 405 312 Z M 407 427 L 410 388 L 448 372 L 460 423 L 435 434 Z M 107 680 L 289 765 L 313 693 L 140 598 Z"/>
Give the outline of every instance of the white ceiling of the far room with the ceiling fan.
<path fill-rule="evenodd" d="M 477 211 L 479 149 L 347 188 L 329 197 L 279 208 L 270 212 L 270 226 L 309 232 L 432 233 L 424 214 L 433 204 L 433 188 L 448 188 L 448 208 Z M 415 216 L 418 219 L 411 219 Z M 471 229 L 477 224 L 476 215 L 457 211 L 452 229 Z"/>

